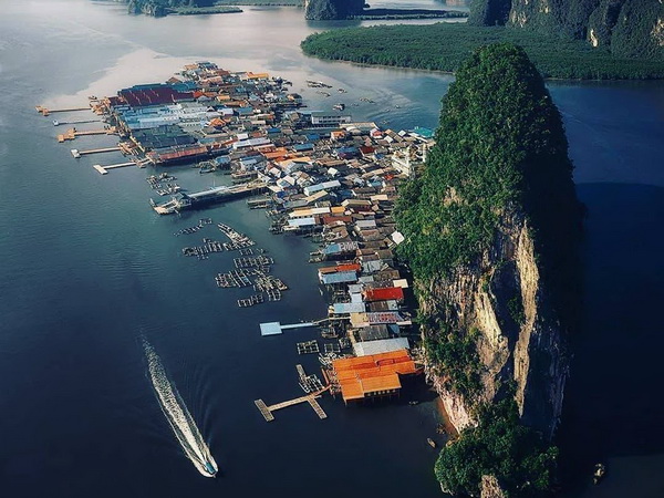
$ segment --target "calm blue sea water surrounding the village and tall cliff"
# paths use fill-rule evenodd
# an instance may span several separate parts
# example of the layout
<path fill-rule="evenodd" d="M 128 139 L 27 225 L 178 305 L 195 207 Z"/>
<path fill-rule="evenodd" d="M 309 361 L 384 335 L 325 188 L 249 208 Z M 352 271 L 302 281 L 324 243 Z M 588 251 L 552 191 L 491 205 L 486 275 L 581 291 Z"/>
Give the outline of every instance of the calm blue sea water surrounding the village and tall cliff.
<path fill-rule="evenodd" d="M 274 237 L 243 203 L 180 218 L 147 204 L 153 172 L 114 170 L 108 154 L 74 160 L 35 104 L 73 105 L 90 94 L 163 81 L 193 60 L 269 71 L 293 81 L 311 108 L 345 102 L 359 120 L 394 127 L 436 125 L 450 77 L 304 58 L 309 33 L 351 23 L 308 23 L 291 8 L 241 14 L 151 19 L 85 0 L 2 3 L 0 17 L 0 494 L 11 497 L 438 496 L 433 478 L 433 403 L 346 409 L 330 398 L 319 421 L 308 406 L 266 424 L 253 400 L 299 395 L 294 343 L 309 331 L 262 339 L 258 323 L 318 318 L 305 239 Z M 325 98 L 305 80 L 349 91 Z M 661 496 L 664 440 L 657 422 L 656 355 L 664 173 L 662 84 L 551 86 L 589 206 L 587 307 L 578 338 L 561 439 L 575 469 L 609 458 L 605 484 L 583 496 Z M 370 97 L 376 104 L 360 102 Z M 357 106 L 353 106 L 357 103 Z M 400 106 L 398 108 L 396 106 Z M 66 120 L 77 116 L 61 115 Z M 96 125 L 81 125 L 94 128 Z M 186 167 L 185 187 L 227 181 Z M 218 290 L 230 255 L 180 256 L 217 237 L 206 228 L 174 237 L 201 216 L 268 248 L 291 284 L 283 301 L 240 310 L 245 292 Z M 146 377 L 138 336 L 153 343 L 198 422 L 222 477 L 205 479 L 181 453 Z M 658 494 L 657 494 L 658 492 Z"/>

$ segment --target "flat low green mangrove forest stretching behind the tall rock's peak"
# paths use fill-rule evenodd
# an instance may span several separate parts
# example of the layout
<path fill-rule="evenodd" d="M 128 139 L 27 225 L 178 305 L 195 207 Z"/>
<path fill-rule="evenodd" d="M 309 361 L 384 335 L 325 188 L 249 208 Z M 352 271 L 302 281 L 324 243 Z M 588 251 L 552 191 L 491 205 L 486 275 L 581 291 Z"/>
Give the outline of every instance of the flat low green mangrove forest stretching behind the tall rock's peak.
<path fill-rule="evenodd" d="M 619 58 L 583 41 L 530 30 L 460 23 L 326 31 L 308 37 L 302 50 L 321 59 L 455 72 L 477 48 L 501 42 L 523 46 L 544 77 L 664 79 L 663 61 Z"/>

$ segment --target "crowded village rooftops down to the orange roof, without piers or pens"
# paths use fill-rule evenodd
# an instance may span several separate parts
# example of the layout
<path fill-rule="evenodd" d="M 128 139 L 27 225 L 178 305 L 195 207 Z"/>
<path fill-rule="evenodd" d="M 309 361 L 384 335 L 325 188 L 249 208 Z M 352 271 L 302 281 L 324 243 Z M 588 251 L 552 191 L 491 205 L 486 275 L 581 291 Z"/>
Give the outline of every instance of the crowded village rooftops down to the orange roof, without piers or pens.
<path fill-rule="evenodd" d="M 332 362 L 344 401 L 391 395 L 416 373 L 404 332 L 408 282 L 395 261 L 403 241 L 392 216 L 397 185 L 433 145 L 426 128 L 395 132 L 338 111 L 303 112 L 290 82 L 266 73 L 189 64 L 164 84 L 107 97 L 103 110 L 155 164 L 211 159 L 262 181 L 271 229 L 317 237 L 331 323 L 343 324 L 354 359 Z"/>

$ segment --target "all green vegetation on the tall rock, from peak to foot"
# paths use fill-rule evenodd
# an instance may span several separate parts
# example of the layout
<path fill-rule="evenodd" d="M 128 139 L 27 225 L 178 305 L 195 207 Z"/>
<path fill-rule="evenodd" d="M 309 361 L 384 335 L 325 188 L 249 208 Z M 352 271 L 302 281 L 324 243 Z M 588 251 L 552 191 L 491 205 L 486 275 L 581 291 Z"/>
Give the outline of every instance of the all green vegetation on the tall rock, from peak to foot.
<path fill-rule="evenodd" d="M 519 234 L 526 220 L 539 279 L 559 310 L 557 290 L 569 276 L 580 215 L 562 120 L 541 75 L 519 46 L 478 49 L 443 98 L 436 145 L 424 170 L 402 187 L 396 205 L 405 236 L 398 256 L 411 266 L 417 288 L 438 282 L 432 292 L 459 292 L 477 277 L 480 260 L 505 250 L 497 247 L 505 241 L 499 235 Z M 500 264 L 495 259 L 495 274 Z M 518 295 L 500 298 L 515 323 L 523 320 Z M 464 396 L 478 422 L 442 450 L 436 476 L 443 488 L 477 496 L 483 476 L 491 476 L 510 497 L 546 492 L 557 449 L 520 423 L 509 385 L 495 386 L 495 404 L 481 397 L 480 333 L 459 321 L 446 322 L 454 313 L 445 307 L 452 303 L 438 305 L 419 318 L 429 367 L 446 390 Z M 499 308 L 496 303 L 494 310 Z"/>

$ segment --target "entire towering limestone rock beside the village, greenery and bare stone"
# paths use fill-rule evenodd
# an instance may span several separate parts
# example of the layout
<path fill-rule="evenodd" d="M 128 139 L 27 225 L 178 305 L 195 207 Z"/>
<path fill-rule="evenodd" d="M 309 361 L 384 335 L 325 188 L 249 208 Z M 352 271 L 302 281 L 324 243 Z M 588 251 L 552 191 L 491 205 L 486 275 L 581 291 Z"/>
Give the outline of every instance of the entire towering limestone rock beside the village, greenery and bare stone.
<path fill-rule="evenodd" d="M 427 376 L 459 432 L 436 475 L 474 496 L 546 490 L 582 210 L 560 113 L 522 49 L 489 45 L 461 65 L 436 146 L 400 191 L 398 253 L 415 277 Z"/>

